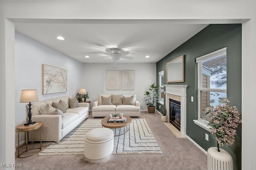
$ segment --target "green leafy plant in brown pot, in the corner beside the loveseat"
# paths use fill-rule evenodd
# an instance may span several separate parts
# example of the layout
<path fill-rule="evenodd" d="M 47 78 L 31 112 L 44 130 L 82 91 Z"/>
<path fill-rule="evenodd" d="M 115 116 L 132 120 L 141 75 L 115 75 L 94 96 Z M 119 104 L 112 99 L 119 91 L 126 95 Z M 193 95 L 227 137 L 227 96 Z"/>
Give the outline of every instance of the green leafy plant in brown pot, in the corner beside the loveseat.
<path fill-rule="evenodd" d="M 146 105 L 148 105 L 148 113 L 155 113 L 156 107 L 154 106 L 154 103 L 156 101 L 158 101 L 158 88 L 157 85 L 152 84 L 150 85 L 150 89 L 151 92 L 146 91 L 146 93 L 144 95 L 146 95 L 146 97 L 144 97 L 144 99 L 146 98 L 145 101 L 147 101 L 148 103 L 146 103 Z"/>

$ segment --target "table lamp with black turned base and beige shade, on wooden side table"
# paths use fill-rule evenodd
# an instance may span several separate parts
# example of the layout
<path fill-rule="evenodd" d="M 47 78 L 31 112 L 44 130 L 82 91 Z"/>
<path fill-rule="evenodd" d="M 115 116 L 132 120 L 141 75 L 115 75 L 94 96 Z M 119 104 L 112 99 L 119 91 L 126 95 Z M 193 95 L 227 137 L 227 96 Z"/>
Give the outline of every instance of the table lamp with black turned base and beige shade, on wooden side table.
<path fill-rule="evenodd" d="M 20 103 L 29 103 L 28 104 L 28 122 L 24 126 L 33 125 L 36 122 L 32 122 L 31 117 L 31 102 L 38 101 L 38 95 L 36 90 L 21 90 Z"/>

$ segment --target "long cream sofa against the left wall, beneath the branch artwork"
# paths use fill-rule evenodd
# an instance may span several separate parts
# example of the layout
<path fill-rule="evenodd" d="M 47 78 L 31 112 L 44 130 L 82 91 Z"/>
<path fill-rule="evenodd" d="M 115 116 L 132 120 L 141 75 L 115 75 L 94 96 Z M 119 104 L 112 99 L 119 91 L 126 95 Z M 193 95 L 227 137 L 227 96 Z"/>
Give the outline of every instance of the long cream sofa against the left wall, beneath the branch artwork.
<path fill-rule="evenodd" d="M 66 112 L 63 113 L 63 117 L 62 115 L 40 114 L 40 106 L 46 104 L 52 105 L 52 102 L 58 103 L 60 100 L 64 101 L 67 107 Z M 88 117 L 88 104 L 89 103 L 78 103 L 79 107 L 71 109 L 68 102 L 68 96 L 33 102 L 31 106 L 32 121 L 44 123 L 42 127 L 42 141 L 59 142 L 64 136 Z M 28 140 L 40 141 L 40 130 L 37 129 L 30 131 Z"/>

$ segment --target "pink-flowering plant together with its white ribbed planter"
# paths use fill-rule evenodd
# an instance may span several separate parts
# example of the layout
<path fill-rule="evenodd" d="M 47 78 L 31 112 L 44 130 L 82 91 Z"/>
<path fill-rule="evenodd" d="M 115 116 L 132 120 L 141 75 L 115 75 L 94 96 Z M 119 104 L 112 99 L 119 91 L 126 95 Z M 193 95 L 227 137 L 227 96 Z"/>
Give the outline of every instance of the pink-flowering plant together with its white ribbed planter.
<path fill-rule="evenodd" d="M 241 123 L 236 106 L 229 106 L 228 103 L 228 99 L 225 99 L 225 104 L 220 104 L 216 107 L 212 106 L 207 112 L 209 113 L 207 117 L 209 119 L 208 126 L 210 126 L 211 133 L 217 140 L 217 148 L 211 147 L 207 150 L 208 158 L 211 157 L 213 160 L 215 158 L 219 164 L 231 164 L 233 162 L 232 156 L 226 150 L 221 149 L 220 146 L 234 144 L 236 128 Z M 214 164 L 214 162 L 208 160 L 208 168 L 212 163 Z"/>

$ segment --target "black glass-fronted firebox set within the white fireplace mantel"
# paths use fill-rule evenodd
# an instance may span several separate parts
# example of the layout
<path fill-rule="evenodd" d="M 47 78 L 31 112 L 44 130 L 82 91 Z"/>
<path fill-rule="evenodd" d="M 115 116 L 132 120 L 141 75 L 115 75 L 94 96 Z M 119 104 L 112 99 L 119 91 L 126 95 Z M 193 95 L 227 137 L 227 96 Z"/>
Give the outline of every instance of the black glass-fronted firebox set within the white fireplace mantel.
<path fill-rule="evenodd" d="M 169 99 L 170 123 L 180 130 L 180 102 Z"/>

